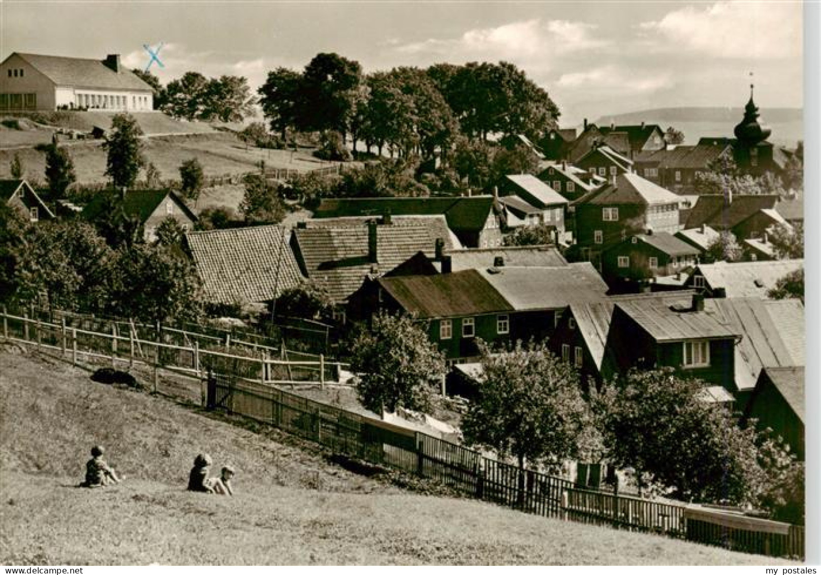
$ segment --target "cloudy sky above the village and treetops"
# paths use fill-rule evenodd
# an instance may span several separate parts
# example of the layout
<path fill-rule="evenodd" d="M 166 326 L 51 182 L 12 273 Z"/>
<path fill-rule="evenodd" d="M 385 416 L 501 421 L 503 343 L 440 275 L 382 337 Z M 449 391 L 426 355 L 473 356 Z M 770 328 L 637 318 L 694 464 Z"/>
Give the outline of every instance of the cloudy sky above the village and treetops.
<path fill-rule="evenodd" d="M 163 83 L 186 71 L 301 70 L 336 52 L 366 72 L 506 61 L 562 111 L 562 126 L 649 108 L 741 107 L 754 73 L 762 108 L 803 106 L 802 6 L 759 2 L 0 2 L 12 52 L 122 54 Z"/>

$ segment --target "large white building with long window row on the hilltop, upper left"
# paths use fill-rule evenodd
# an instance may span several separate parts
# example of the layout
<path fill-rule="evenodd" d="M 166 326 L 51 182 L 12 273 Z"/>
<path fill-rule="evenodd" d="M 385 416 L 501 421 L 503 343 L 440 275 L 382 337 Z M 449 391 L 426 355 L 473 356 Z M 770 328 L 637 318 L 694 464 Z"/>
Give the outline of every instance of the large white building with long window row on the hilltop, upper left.
<path fill-rule="evenodd" d="M 151 111 L 154 90 L 120 62 L 11 53 L 0 63 L 0 110 Z"/>

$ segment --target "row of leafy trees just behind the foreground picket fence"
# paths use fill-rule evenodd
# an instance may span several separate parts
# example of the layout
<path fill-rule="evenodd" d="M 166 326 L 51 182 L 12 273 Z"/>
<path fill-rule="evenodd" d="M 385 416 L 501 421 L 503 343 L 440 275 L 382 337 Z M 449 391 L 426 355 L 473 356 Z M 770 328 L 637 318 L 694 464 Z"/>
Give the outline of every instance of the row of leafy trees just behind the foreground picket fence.
<path fill-rule="evenodd" d="M 673 370 L 631 371 L 581 393 L 578 372 L 544 345 L 480 343 L 477 397 L 462 418 L 466 444 L 522 469 L 566 459 L 636 471 L 640 489 L 699 503 L 754 504 L 803 522 L 803 466 L 782 444 L 699 398 L 704 383 Z M 407 317 L 378 315 L 354 338 L 351 366 L 365 407 L 430 412 L 444 359 Z"/>

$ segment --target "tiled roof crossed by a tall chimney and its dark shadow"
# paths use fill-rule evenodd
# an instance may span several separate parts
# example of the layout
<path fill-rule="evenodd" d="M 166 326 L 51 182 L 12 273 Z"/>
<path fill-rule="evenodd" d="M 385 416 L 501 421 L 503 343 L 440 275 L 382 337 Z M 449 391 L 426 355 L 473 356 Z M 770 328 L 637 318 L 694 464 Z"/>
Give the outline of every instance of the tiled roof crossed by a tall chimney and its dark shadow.
<path fill-rule="evenodd" d="M 436 253 L 437 237 L 420 225 L 378 225 L 377 259 L 368 257 L 368 226 L 297 228 L 297 260 L 309 278 L 325 286 L 334 301 L 342 302 L 360 288 L 365 277 L 386 273 L 409 260 L 418 251 L 429 258 Z"/>

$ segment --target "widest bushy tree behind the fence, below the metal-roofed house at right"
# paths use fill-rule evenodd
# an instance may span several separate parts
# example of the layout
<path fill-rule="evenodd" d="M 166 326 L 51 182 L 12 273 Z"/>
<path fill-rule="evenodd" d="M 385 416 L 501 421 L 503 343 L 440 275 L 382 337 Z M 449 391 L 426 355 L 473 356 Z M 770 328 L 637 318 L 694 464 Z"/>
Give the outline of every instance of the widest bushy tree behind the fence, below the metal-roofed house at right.
<path fill-rule="evenodd" d="M 752 427 L 736 426 L 732 412 L 704 401 L 702 382 L 672 369 L 631 371 L 606 382 L 594 398 L 609 458 L 633 467 L 646 485 L 698 503 L 754 503 L 766 489 Z"/>

